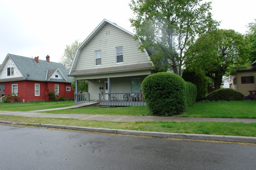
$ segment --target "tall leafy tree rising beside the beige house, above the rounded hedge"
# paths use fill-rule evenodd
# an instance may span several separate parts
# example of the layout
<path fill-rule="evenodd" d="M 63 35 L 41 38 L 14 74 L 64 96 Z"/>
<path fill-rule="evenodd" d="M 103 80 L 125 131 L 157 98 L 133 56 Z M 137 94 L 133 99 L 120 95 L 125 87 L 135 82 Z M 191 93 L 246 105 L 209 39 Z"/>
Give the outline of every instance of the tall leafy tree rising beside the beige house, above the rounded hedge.
<path fill-rule="evenodd" d="M 215 29 L 211 18 L 211 2 L 202 0 L 132 0 L 130 8 L 136 15 L 130 22 L 139 49 L 151 49 L 154 67 L 173 70 L 181 75 L 184 54 L 198 35 Z"/>

